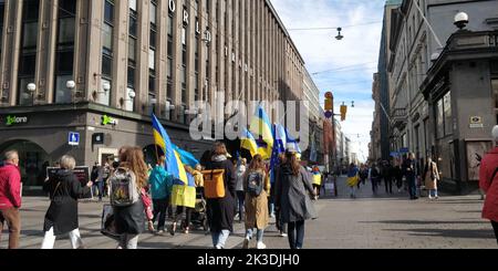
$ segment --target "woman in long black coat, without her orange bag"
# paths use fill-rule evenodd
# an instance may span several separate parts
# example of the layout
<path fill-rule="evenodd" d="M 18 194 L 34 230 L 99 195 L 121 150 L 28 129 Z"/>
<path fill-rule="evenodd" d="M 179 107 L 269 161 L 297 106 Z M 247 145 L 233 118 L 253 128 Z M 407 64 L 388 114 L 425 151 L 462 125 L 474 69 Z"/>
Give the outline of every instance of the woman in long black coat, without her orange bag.
<path fill-rule="evenodd" d="M 224 249 L 230 232 L 234 232 L 234 206 L 237 185 L 236 169 L 234 164 L 228 160 L 227 157 L 228 152 L 225 144 L 216 143 L 211 160 L 206 165 L 206 170 L 225 170 L 222 177 L 225 197 L 207 199 L 209 228 L 211 231 L 212 246 L 216 249 Z"/>

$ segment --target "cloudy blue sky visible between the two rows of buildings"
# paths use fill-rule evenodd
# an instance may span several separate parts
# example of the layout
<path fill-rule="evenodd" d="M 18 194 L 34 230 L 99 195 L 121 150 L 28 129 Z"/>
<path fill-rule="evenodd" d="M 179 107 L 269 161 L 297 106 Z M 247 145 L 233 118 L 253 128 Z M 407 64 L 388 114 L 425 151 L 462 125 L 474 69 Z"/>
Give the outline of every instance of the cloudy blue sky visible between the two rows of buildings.
<path fill-rule="evenodd" d="M 305 66 L 320 90 L 334 94 L 335 113 L 345 102 L 342 131 L 361 160 L 369 156 L 375 103 L 373 74 L 377 71 L 384 0 L 271 0 Z M 331 30 L 300 30 L 334 28 Z M 335 40 L 342 28 L 342 41 Z M 355 107 L 351 107 L 354 101 Z"/>

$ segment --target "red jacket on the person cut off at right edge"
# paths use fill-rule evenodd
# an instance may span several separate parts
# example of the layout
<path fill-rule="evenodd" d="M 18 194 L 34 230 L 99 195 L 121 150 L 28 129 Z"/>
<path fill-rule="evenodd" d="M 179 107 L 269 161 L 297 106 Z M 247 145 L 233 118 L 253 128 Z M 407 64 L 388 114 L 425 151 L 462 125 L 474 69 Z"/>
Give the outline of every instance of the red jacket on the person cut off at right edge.
<path fill-rule="evenodd" d="M 491 177 L 498 167 L 498 147 L 489 152 L 480 163 L 479 186 L 486 192 L 483 218 L 498 222 L 498 174 Z"/>

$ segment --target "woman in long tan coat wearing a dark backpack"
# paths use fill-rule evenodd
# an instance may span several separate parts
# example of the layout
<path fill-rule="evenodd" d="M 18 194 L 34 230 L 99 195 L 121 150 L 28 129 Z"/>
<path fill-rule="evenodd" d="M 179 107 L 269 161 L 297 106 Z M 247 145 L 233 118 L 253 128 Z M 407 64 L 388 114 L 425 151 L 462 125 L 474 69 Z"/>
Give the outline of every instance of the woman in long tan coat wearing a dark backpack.
<path fill-rule="evenodd" d="M 268 195 L 270 181 L 267 178 L 264 161 L 261 155 L 252 158 L 249 168 L 243 175 L 243 190 L 246 191 L 246 239 L 242 249 L 249 248 L 249 242 L 257 229 L 257 249 L 266 249 L 262 242 L 264 229 L 268 227 Z"/>

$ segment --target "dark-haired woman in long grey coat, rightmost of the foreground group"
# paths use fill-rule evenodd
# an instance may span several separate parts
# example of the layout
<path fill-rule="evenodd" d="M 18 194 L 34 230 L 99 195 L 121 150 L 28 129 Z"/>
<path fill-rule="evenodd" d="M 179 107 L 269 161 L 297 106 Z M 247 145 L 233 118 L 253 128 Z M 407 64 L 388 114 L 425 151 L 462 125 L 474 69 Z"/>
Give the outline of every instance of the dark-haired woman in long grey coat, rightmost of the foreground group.
<path fill-rule="evenodd" d="M 295 150 L 288 147 L 286 160 L 279 168 L 276 183 L 276 207 L 283 223 L 288 223 L 289 246 L 302 249 L 304 244 L 304 221 L 315 219 L 317 212 L 311 197 L 315 197 L 311 176 L 301 166 Z"/>

